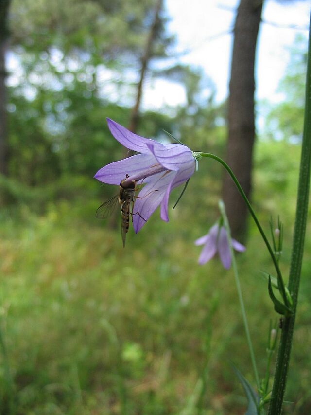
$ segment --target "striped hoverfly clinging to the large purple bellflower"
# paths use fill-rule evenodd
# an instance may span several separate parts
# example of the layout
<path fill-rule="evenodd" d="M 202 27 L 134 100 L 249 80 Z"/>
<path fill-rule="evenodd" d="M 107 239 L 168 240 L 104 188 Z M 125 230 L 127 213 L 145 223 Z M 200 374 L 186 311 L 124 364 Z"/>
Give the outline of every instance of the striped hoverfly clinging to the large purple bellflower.
<path fill-rule="evenodd" d="M 121 180 L 120 182 L 120 190 L 119 194 L 113 196 L 112 198 L 106 200 L 100 207 L 97 209 L 95 216 L 99 219 L 104 219 L 108 217 L 111 212 L 115 209 L 117 205 L 117 201 L 121 205 L 121 236 L 123 241 L 123 247 L 125 248 L 125 237 L 128 232 L 129 222 L 130 222 L 130 215 L 133 216 L 133 209 L 135 199 L 138 196 L 135 196 L 136 188 L 136 180 L 127 181 L 129 175 L 125 176 L 125 179 Z M 130 209 L 132 203 L 132 211 Z M 134 215 L 138 214 L 143 220 L 146 221 L 138 212 Z M 146 221 L 147 222 L 147 221 Z"/>

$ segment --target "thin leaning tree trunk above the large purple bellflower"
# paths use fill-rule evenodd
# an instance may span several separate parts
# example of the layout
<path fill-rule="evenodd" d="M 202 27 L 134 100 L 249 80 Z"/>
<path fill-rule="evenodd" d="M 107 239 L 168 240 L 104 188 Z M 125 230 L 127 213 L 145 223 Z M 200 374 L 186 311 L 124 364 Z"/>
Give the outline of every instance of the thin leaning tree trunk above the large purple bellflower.
<path fill-rule="evenodd" d="M 147 38 L 147 43 L 145 46 L 144 54 L 141 57 L 140 78 L 137 84 L 136 101 L 132 109 L 131 118 L 129 122 L 129 130 L 132 132 L 135 132 L 138 126 L 139 106 L 140 106 L 141 95 L 142 95 L 142 87 L 143 87 L 146 70 L 148 69 L 148 63 L 150 61 L 150 58 L 152 57 L 152 46 L 153 46 L 155 36 L 156 36 L 156 28 L 157 28 L 157 24 L 159 21 L 159 13 L 162 8 L 162 4 L 163 4 L 163 0 L 157 0 L 156 5 L 155 5 L 155 16 L 153 19 L 153 23 L 150 27 L 150 32 Z"/>

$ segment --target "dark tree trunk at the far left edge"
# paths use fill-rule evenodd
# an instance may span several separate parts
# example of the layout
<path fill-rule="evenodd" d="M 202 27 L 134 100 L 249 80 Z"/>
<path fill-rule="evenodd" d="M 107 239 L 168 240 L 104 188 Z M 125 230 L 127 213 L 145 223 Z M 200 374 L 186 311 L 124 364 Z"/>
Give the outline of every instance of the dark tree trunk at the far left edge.
<path fill-rule="evenodd" d="M 0 174 L 7 174 L 7 114 L 5 52 L 8 42 L 7 16 L 10 0 L 0 1 Z"/>

